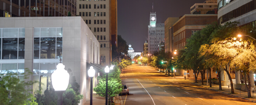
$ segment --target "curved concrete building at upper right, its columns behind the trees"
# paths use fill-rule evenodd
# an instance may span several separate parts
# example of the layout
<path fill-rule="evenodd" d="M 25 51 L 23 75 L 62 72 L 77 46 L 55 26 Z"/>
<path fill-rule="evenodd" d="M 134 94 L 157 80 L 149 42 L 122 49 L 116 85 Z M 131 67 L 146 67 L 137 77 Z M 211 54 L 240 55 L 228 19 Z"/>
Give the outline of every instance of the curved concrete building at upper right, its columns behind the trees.
<path fill-rule="evenodd" d="M 218 0 L 218 23 L 224 25 L 225 22 L 238 21 L 238 27 L 248 25 L 255 30 L 256 25 L 256 0 Z M 252 30 L 252 31 L 254 31 Z M 228 68 L 230 69 L 230 68 Z M 228 83 L 227 73 L 223 72 L 225 83 Z M 250 72 L 251 91 L 254 87 L 256 77 Z M 236 84 L 240 84 L 243 79 L 242 71 L 235 71 Z M 234 84 L 235 89 L 239 89 L 239 85 Z M 245 90 L 244 90 L 245 91 Z"/>

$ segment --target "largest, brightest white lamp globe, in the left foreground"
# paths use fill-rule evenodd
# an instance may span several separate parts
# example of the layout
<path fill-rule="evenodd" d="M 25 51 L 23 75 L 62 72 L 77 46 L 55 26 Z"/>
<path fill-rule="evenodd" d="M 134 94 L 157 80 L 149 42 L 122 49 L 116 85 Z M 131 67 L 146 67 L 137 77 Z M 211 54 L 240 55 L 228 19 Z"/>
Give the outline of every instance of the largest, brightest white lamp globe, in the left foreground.
<path fill-rule="evenodd" d="M 57 69 L 52 73 L 52 85 L 55 91 L 65 91 L 69 83 L 69 74 L 65 65 L 59 63 Z"/>

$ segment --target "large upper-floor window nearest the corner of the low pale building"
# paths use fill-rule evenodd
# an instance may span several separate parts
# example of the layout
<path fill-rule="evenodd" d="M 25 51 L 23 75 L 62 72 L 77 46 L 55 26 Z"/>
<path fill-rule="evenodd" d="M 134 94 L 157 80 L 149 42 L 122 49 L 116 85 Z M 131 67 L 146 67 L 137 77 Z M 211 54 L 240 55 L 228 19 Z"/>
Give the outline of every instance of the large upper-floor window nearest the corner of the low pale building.
<path fill-rule="evenodd" d="M 62 58 L 62 28 L 34 28 L 34 59 Z"/>

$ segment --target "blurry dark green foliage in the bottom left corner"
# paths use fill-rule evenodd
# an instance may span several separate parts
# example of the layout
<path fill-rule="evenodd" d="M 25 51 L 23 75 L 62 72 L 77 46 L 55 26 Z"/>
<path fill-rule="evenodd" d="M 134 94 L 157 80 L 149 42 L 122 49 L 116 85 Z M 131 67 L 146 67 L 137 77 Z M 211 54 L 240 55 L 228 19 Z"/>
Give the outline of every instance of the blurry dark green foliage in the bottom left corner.
<path fill-rule="evenodd" d="M 29 79 L 32 72 L 25 68 L 24 79 Z M 17 73 L 0 75 L 0 103 L 1 105 L 38 105 L 33 97 L 31 86 L 35 82 L 24 81 L 17 78 Z"/>

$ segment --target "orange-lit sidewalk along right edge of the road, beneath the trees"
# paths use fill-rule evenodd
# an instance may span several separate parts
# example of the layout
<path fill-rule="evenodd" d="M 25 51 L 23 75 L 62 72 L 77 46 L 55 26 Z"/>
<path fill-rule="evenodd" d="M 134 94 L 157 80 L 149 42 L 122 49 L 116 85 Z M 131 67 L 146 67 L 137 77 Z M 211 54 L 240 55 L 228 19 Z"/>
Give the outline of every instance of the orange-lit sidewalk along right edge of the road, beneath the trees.
<path fill-rule="evenodd" d="M 162 74 L 165 75 L 164 73 L 162 73 Z M 166 75 L 166 76 L 167 76 L 167 75 Z M 171 76 L 169 76 L 169 77 L 171 77 Z M 174 77 L 171 77 L 171 78 L 174 78 Z M 183 76 L 175 76 L 175 78 L 179 78 L 179 79 L 181 79 L 181 80 L 184 80 L 184 77 L 183 77 Z M 187 78 L 187 79 L 184 80 L 184 81 L 187 81 L 187 82 L 190 82 L 190 83 L 193 83 L 193 84 L 196 84 L 196 85 L 201 85 L 201 83 L 194 83 L 194 78 L 193 78 L 193 77 L 189 77 L 189 79 Z M 199 81 L 199 80 L 198 80 L 198 81 Z M 214 90 L 214 91 L 217 91 L 217 92 L 221 92 L 221 93 L 223 93 L 223 94 L 228 94 L 228 95 L 230 95 L 230 96 L 234 96 L 234 97 L 246 99 L 246 100 L 249 100 L 249 101 L 251 101 L 251 102 L 256 103 L 256 98 L 255 98 L 255 99 L 253 99 L 253 98 L 245 98 L 245 97 L 247 97 L 247 92 L 246 92 L 246 91 L 240 91 L 240 90 L 234 89 L 234 92 L 235 92 L 236 94 L 229 94 L 229 93 L 231 93 L 231 87 L 230 87 L 230 86 L 229 86 L 229 88 L 228 88 L 228 86 L 222 86 L 222 90 L 221 90 L 221 91 L 218 91 L 218 90 L 219 90 L 219 85 L 212 84 L 213 87 L 210 87 L 209 85 L 206 86 L 206 84 L 207 84 L 207 83 L 204 82 L 204 85 L 201 85 L 201 86 L 202 86 L 202 87 L 205 87 L 205 88 L 208 88 L 208 89 L 210 89 L 210 90 Z M 256 93 L 254 94 L 254 96 L 256 97 Z M 251 92 L 251 97 L 253 97 L 253 96 L 252 96 L 252 92 Z"/>

